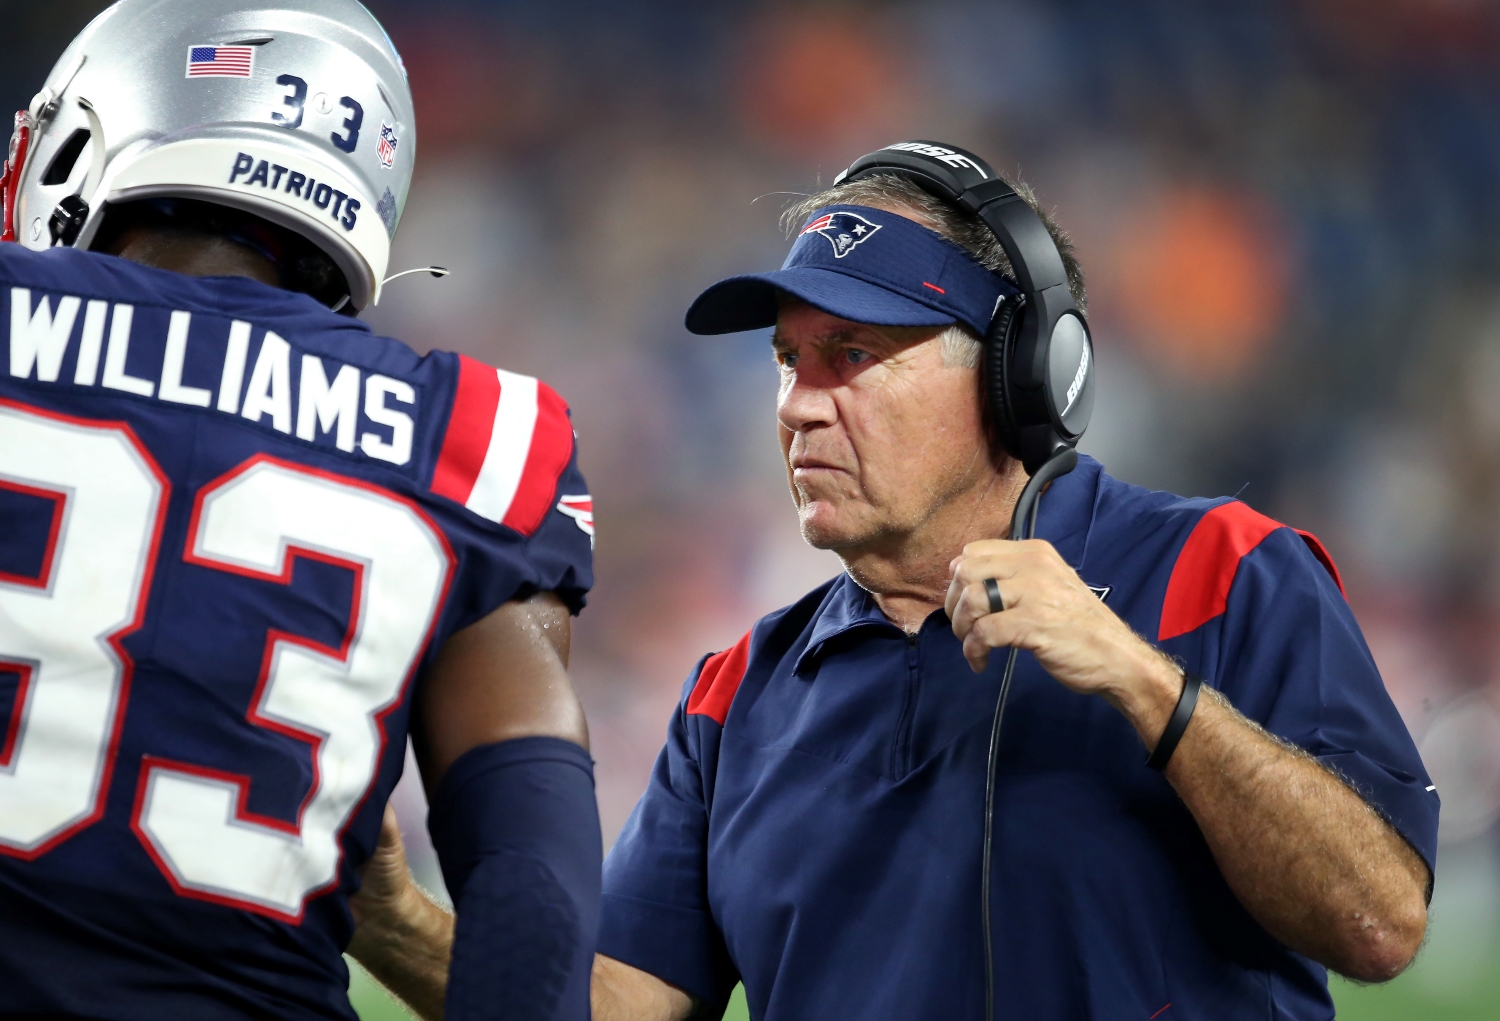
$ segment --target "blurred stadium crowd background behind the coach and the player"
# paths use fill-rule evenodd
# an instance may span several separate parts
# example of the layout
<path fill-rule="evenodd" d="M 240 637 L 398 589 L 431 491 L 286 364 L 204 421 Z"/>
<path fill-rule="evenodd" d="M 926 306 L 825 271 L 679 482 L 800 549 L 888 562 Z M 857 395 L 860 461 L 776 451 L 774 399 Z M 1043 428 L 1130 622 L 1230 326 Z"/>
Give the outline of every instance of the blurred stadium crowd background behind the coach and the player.
<path fill-rule="evenodd" d="M 99 0 L 0 0 L 0 108 Z M 614 840 L 682 679 L 831 576 L 765 337 L 688 337 L 780 262 L 784 192 L 897 138 L 1035 183 L 1089 273 L 1084 448 L 1317 532 L 1443 796 L 1428 948 L 1340 1017 L 1500 1018 L 1500 4 L 423 0 L 370 4 L 418 169 L 369 319 L 549 379 L 598 508 L 573 673 Z M 441 889 L 420 789 L 412 864 Z M 399 1017 L 369 979 L 366 1020 Z M 740 1011 L 735 1015 L 735 1011 Z M 730 1017 L 744 1017 L 742 1006 Z"/>

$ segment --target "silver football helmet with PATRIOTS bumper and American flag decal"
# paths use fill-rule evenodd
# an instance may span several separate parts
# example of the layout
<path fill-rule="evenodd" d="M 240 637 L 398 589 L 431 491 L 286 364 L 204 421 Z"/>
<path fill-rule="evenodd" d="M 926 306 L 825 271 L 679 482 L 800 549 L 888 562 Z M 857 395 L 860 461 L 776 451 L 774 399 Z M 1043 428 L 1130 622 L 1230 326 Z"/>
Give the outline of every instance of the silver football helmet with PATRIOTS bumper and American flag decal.
<path fill-rule="evenodd" d="M 16 114 L 0 240 L 88 247 L 114 202 L 296 231 L 380 301 L 417 147 L 406 70 L 356 0 L 120 0 Z"/>

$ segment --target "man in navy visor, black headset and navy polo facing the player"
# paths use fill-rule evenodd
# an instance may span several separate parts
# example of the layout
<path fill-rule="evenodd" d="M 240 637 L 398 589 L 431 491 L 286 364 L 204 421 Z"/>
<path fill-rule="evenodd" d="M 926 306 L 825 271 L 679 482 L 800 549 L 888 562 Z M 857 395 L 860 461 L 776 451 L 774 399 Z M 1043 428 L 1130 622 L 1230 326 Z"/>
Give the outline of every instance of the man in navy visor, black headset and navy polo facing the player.
<path fill-rule="evenodd" d="M 802 535 L 846 570 L 688 678 L 604 864 L 594 1018 L 742 981 L 758 1021 L 1320 1021 L 1326 969 L 1407 967 L 1438 799 L 1317 540 L 1072 454 L 1082 273 L 974 154 L 894 145 L 789 216 L 687 327 L 774 325 Z M 382 978 L 416 966 L 369 930 L 447 931 L 400 886 L 357 936 Z"/>

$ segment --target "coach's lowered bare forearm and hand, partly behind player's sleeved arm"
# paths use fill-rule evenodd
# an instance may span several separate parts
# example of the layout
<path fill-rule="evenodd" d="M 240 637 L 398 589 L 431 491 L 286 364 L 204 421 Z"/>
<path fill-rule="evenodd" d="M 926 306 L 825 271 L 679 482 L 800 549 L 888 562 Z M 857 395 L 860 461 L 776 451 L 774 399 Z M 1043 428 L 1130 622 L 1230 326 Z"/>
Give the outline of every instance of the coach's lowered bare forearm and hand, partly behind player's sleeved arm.
<path fill-rule="evenodd" d="M 453 951 L 453 916 L 432 903 L 406 870 L 396 814 L 386 810 L 380 846 L 351 901 L 350 955 L 426 1021 L 441 1021 Z M 594 955 L 594 1021 L 687 1021 L 694 1003 L 654 975 Z"/>

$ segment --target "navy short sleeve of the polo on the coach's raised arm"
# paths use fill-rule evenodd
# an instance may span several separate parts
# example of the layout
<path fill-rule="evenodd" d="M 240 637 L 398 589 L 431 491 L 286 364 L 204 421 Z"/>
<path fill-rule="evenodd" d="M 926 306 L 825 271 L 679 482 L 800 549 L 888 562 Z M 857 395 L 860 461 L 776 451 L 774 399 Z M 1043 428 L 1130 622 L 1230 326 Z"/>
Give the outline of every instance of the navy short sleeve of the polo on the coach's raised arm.
<path fill-rule="evenodd" d="M 1348 603 L 1290 528 L 1240 561 L 1209 679 L 1246 717 L 1336 771 L 1436 867 L 1432 781 Z"/>

